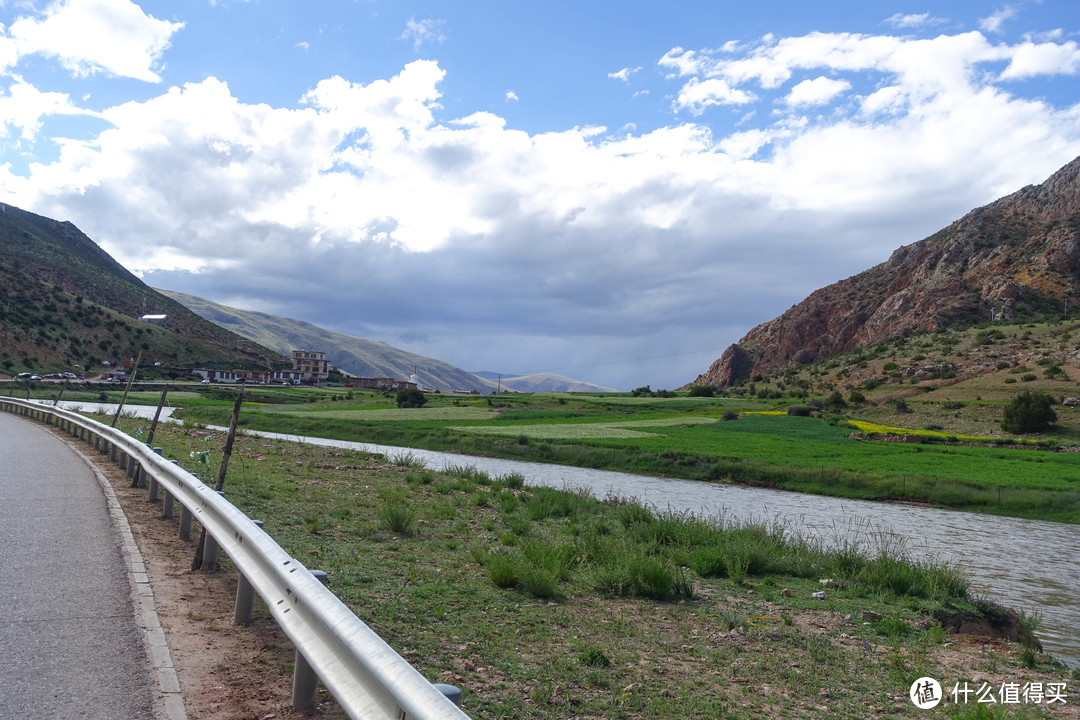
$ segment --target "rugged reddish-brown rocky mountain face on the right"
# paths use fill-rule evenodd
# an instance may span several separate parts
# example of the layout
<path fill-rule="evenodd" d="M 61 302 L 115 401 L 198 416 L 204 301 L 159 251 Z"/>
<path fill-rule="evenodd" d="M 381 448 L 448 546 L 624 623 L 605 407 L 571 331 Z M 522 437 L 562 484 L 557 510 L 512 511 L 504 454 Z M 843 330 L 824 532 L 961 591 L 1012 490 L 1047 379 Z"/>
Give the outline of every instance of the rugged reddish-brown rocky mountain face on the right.
<path fill-rule="evenodd" d="M 1061 313 L 1080 271 L 1080 158 L 886 262 L 815 290 L 691 384 L 726 388 L 917 330 Z"/>

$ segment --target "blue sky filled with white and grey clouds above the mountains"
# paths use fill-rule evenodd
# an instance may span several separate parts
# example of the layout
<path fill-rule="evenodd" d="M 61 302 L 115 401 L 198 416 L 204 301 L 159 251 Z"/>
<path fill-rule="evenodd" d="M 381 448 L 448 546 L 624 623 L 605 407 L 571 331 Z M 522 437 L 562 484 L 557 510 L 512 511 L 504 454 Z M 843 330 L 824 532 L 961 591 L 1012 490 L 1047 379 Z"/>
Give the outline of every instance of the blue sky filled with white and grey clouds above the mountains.
<path fill-rule="evenodd" d="M 673 388 L 1080 155 L 1078 43 L 1076 0 L 0 0 L 0 201 L 156 287 Z"/>

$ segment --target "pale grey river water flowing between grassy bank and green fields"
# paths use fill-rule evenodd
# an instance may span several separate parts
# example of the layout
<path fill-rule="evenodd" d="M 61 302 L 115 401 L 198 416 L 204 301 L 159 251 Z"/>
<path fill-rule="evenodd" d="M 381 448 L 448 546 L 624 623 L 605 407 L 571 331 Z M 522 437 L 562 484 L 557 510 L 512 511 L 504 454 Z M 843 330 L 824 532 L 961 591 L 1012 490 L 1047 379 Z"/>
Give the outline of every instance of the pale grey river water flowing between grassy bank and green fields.
<path fill-rule="evenodd" d="M 62 406 L 67 405 L 62 403 Z M 71 403 L 69 408 L 98 410 L 92 403 Z M 116 411 L 116 406 L 111 406 L 111 411 Z M 154 408 L 127 406 L 124 412 L 129 411 L 152 418 Z M 881 544 L 901 546 L 912 557 L 960 566 L 971 578 L 976 594 L 1017 610 L 1038 613 L 1042 624 L 1037 636 L 1047 652 L 1071 667 L 1080 667 L 1080 527 L 1076 525 L 369 443 L 255 431 L 245 433 L 379 452 L 390 458 L 407 454 L 433 470 L 470 465 L 492 477 L 518 473 L 528 485 L 585 490 L 597 498 L 632 498 L 656 510 L 689 512 L 703 518 L 782 521 L 793 532 L 818 539 L 826 545 L 856 541 L 872 552 Z"/>

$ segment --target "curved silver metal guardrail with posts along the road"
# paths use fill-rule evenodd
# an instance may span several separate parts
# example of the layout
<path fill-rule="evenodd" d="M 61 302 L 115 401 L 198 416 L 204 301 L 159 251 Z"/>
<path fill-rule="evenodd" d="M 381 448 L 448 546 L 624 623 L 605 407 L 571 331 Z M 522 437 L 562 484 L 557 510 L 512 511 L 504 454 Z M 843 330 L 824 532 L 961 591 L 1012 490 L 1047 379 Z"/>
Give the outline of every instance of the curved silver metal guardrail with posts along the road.
<path fill-rule="evenodd" d="M 76 412 L 10 397 L 0 397 L 0 410 L 55 425 L 108 453 L 129 477 L 149 480 L 151 499 L 158 486 L 167 492 L 166 501 L 178 501 L 190 513 L 189 530 L 190 519 L 199 520 L 241 573 L 238 620 L 241 596 L 254 588 L 296 646 L 294 705 L 298 696 L 302 705 L 305 696 L 314 693 L 313 679 L 302 677 L 307 665 L 350 718 L 468 720 L 299 560 L 194 475 L 136 438 Z M 181 517 L 181 532 L 184 521 Z"/>

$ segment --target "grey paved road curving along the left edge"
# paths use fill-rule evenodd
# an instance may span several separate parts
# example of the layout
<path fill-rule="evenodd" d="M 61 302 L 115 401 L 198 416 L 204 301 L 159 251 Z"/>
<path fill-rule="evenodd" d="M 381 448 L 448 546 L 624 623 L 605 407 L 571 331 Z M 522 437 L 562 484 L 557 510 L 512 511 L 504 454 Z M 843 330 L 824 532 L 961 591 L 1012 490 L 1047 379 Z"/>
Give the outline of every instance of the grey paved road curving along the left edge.
<path fill-rule="evenodd" d="M 152 718 L 131 594 L 93 472 L 0 413 L 0 718 Z"/>

